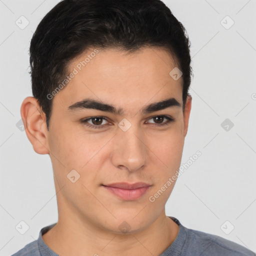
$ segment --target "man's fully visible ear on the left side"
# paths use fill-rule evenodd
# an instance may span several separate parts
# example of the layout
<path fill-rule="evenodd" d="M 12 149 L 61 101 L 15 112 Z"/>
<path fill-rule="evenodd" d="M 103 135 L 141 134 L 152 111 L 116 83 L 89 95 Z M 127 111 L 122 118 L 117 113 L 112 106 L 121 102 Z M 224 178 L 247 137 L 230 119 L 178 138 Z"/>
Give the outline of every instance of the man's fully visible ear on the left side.
<path fill-rule="evenodd" d="M 38 154 L 48 154 L 46 118 L 38 101 L 34 97 L 26 97 L 21 104 L 20 115 L 34 151 Z"/>

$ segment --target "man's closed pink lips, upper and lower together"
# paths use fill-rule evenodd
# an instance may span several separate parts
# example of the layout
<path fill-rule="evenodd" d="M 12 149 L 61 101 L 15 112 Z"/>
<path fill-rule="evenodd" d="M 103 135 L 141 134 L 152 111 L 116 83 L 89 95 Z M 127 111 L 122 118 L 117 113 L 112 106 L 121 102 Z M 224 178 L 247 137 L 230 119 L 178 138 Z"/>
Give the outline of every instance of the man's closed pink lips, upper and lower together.
<path fill-rule="evenodd" d="M 150 184 L 144 182 L 136 182 L 129 184 L 127 182 L 121 183 L 112 183 L 107 185 L 102 185 L 106 190 L 113 193 L 117 197 L 123 200 L 137 200 L 141 197 L 147 189 L 150 187 Z"/>

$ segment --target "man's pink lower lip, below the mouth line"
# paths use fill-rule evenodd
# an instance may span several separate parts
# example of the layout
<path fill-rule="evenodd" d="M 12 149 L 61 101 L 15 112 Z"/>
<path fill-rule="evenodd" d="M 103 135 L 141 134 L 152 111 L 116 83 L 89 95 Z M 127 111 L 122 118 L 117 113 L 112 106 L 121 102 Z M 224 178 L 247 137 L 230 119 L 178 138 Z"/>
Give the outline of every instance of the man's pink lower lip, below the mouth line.
<path fill-rule="evenodd" d="M 112 192 L 119 198 L 123 200 L 136 200 L 140 196 L 142 196 L 146 190 L 149 188 L 149 186 L 144 186 L 144 187 L 138 187 L 136 189 L 123 189 L 123 188 L 118 188 L 118 187 L 112 187 L 112 186 L 103 186 L 106 188 L 108 191 Z"/>

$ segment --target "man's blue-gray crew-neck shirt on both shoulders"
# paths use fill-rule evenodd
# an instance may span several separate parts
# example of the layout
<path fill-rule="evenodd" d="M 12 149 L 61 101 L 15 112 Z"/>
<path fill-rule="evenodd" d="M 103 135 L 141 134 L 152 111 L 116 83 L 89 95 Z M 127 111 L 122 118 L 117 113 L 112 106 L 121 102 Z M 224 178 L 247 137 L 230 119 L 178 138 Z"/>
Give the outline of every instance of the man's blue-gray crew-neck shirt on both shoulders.
<path fill-rule="evenodd" d="M 179 225 L 179 231 L 171 245 L 159 256 L 256 256 L 256 254 L 220 236 L 189 229 L 178 219 L 170 217 Z M 42 239 L 56 223 L 43 227 L 38 239 L 25 245 L 12 256 L 59 256 Z"/>

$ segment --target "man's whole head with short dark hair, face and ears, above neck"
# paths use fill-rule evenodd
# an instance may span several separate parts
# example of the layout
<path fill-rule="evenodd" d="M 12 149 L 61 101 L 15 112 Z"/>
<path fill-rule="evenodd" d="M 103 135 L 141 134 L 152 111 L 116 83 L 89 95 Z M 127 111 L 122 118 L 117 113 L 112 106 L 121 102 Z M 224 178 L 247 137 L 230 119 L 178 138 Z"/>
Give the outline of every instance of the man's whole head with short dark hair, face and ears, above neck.
<path fill-rule="evenodd" d="M 44 16 L 21 116 L 34 150 L 50 156 L 59 211 L 113 232 L 164 212 L 188 128 L 189 46 L 160 0 L 62 0 Z M 115 182 L 150 186 L 128 200 L 105 189 Z"/>

